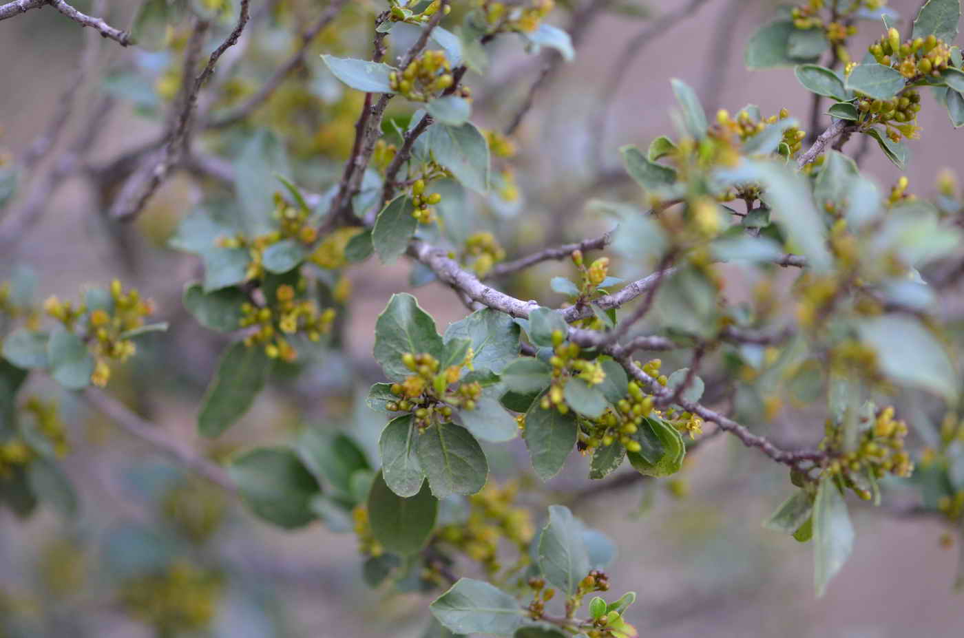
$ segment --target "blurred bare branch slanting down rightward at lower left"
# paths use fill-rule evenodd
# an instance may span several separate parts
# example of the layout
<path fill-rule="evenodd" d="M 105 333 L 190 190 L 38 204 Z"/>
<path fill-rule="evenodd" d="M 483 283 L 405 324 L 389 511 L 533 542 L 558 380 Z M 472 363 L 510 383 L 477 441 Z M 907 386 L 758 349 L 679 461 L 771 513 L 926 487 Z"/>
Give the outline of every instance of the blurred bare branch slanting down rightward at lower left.
<path fill-rule="evenodd" d="M 88 387 L 84 390 L 83 397 L 95 410 L 112 418 L 124 431 L 149 443 L 161 454 L 228 492 L 234 493 L 237 491 L 234 482 L 223 467 L 197 455 L 194 450 L 168 439 L 164 436 L 164 431 L 160 426 L 131 412 L 120 401 L 103 390 Z"/>

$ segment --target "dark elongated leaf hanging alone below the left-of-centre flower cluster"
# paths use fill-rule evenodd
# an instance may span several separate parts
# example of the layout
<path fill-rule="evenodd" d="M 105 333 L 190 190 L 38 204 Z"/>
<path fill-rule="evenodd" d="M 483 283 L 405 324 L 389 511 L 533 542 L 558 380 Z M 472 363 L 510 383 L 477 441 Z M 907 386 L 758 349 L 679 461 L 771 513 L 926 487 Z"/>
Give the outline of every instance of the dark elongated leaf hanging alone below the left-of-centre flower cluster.
<path fill-rule="evenodd" d="M 248 347 L 242 341 L 230 344 L 201 401 L 198 414 L 201 436 L 220 437 L 248 412 L 270 370 L 271 359 L 260 346 Z"/>

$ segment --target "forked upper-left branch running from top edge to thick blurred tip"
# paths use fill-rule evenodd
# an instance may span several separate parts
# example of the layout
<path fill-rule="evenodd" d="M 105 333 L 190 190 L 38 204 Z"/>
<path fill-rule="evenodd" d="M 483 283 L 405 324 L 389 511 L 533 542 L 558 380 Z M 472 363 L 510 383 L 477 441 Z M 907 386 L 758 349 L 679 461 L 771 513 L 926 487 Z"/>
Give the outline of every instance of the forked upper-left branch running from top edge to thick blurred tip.
<path fill-rule="evenodd" d="M 181 77 L 184 78 L 181 92 L 176 100 L 177 107 L 168 120 L 164 146 L 155 153 L 147 156 L 137 172 L 132 174 L 120 189 L 120 194 L 111 208 L 111 218 L 121 221 L 133 219 L 143 210 L 147 199 L 157 191 L 167 179 L 171 169 L 179 162 L 184 149 L 190 146 L 191 124 L 194 120 L 198 105 L 198 94 L 204 82 L 214 72 L 214 66 L 229 47 L 233 46 L 241 37 L 245 25 L 248 24 L 248 6 L 250 0 L 241 0 L 241 12 L 234 29 L 218 48 L 211 53 L 207 65 L 201 74 L 195 77 L 194 72 L 201 54 L 201 43 L 207 33 L 208 23 L 196 20 L 191 37 L 184 53 L 184 65 Z M 189 81 L 188 78 L 194 78 Z"/>

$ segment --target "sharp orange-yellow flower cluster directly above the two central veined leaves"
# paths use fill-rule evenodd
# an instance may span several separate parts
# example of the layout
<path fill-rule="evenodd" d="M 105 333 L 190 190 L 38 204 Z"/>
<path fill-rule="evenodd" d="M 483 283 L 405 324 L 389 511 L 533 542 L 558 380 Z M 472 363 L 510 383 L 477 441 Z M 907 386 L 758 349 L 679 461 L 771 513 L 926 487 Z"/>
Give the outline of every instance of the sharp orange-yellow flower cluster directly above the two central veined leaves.
<path fill-rule="evenodd" d="M 462 368 L 471 369 L 472 358 L 472 349 L 469 348 L 461 363 L 442 370 L 439 359 L 428 353 L 405 353 L 402 362 L 414 374 L 400 384 L 391 385 L 391 393 L 400 400 L 388 403 L 388 411 L 414 413 L 415 425 L 419 431 L 424 431 L 440 418 L 442 422 L 447 421 L 453 407 L 475 410 L 475 401 L 482 394 L 482 385 L 478 382 L 458 383 Z"/>

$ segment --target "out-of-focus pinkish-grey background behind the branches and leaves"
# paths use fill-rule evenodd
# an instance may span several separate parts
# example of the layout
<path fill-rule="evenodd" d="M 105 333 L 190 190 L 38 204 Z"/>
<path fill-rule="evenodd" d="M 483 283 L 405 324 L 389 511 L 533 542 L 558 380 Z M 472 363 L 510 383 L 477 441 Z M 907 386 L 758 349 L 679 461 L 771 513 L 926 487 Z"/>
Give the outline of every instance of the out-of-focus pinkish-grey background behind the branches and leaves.
<path fill-rule="evenodd" d="M 129 24 L 136 4 L 109 2 L 111 21 Z M 244 45 L 270 69 L 270 61 L 290 50 L 294 25 L 313 19 L 327 3 L 254 0 L 253 7 L 263 4 L 282 5 L 280 17 L 261 17 L 253 30 L 260 35 Z M 809 121 L 810 93 L 790 69 L 751 72 L 743 66 L 744 43 L 771 19 L 775 3 L 699 3 L 686 19 L 647 38 L 629 60 L 623 51 L 630 39 L 650 29 L 660 15 L 690 3 L 617 4 L 629 7 L 578 25 L 576 60 L 559 66 L 539 88 L 535 106 L 513 137 L 518 154 L 496 160 L 497 167 L 511 167 L 515 186 L 507 181 L 505 188 L 516 192 L 464 203 L 473 224 L 494 232 L 510 257 L 605 230 L 605 220 L 587 212 L 590 199 L 642 204 L 638 188 L 620 177 L 616 149 L 645 146 L 672 131 L 672 77 L 696 88 L 710 114 L 718 108 L 735 113 L 750 102 L 760 105 L 764 115 L 787 108 Z M 920 4 L 888 3 L 903 19 Z M 362 0 L 349 5 L 350 17 L 322 34 L 312 53 L 367 55 L 370 16 L 381 4 Z M 564 7 L 553 14 L 560 26 L 567 26 L 568 19 Z M 861 23 L 851 48 L 855 55 L 879 36 L 878 26 Z M 0 150 L 14 161 L 53 117 L 76 72 L 84 38 L 75 23 L 50 8 L 0 22 Z M 469 75 L 473 120 L 502 129 L 525 99 L 543 58 L 526 55 L 521 43 L 508 37 L 492 45 L 492 54 L 487 78 Z M 87 149 L 84 161 L 94 173 L 156 136 L 165 73 L 174 67 L 170 53 L 121 49 L 110 41 L 100 45 L 97 55 L 100 70 L 75 102 L 82 115 L 68 123 L 64 136 L 67 146 L 83 132 L 88 110 L 99 108 L 104 92 L 119 96 Z M 347 155 L 345 140 L 350 144 L 360 101 L 340 92 L 316 55 L 309 58 L 307 69 L 282 85 L 254 120 L 272 128 L 298 159 L 298 183 L 321 192 L 335 182 L 338 161 Z M 229 56 L 226 64 L 232 64 Z M 625 67 L 625 77 L 617 93 L 601 95 L 614 66 Z M 243 68 L 241 74 L 256 81 L 258 69 Z M 305 87 L 308 94 L 303 94 Z M 412 111 L 394 108 L 399 117 Z M 828 123 L 821 119 L 820 129 Z M 954 134 L 945 110 L 933 100 L 924 99 L 920 123 L 922 139 L 910 144 L 913 155 L 903 174 L 911 190 L 924 196 L 934 191 L 941 169 L 960 167 L 964 153 L 960 133 Z M 227 142 L 201 136 L 198 145 L 229 152 L 235 140 L 250 134 L 250 128 L 231 129 L 225 133 Z M 64 152 L 55 150 L 39 170 L 50 170 Z M 862 169 L 884 187 L 902 174 L 876 148 L 870 148 Z M 370 261 L 345 269 L 353 293 L 339 322 L 337 341 L 344 347 L 318 353 L 297 377 L 276 378 L 225 437 L 200 439 L 197 407 L 228 337 L 203 330 L 182 309 L 182 287 L 198 278 L 200 265 L 166 242 L 201 200 L 206 178 L 178 174 L 136 222 L 120 226 L 104 214 L 109 176 L 101 175 L 100 181 L 89 177 L 72 173 L 57 180 L 42 217 L 0 249 L 0 279 L 29 267 L 36 276 L 38 303 L 52 294 L 73 299 L 84 286 L 105 285 L 115 277 L 154 300 L 157 320 L 171 322 L 171 330 L 148 336 L 139 356 L 114 370 L 111 393 L 171 438 L 216 460 L 254 444 L 285 443 L 315 427 L 350 432 L 366 445 L 369 461 L 377 462 L 375 442 L 384 419 L 363 403 L 368 386 L 382 381 L 371 359 L 375 318 L 391 293 L 411 291 L 442 332 L 466 314 L 449 290 L 438 283 L 415 287 L 418 273 L 411 273 L 405 262 L 386 268 Z M 636 279 L 645 274 L 637 267 L 614 265 L 610 272 Z M 522 299 L 558 306 L 564 300 L 549 292 L 548 281 L 568 272 L 564 264 L 549 263 L 503 283 Z M 366 587 L 350 529 L 336 533 L 320 522 L 297 532 L 271 528 L 231 495 L 172 465 L 56 385 L 36 379 L 24 393 L 57 403 L 69 440 L 64 465 L 80 514 L 65 520 L 43 508 L 20 520 L 0 510 L 0 636 L 374 638 L 425 631 L 427 604 L 435 595 L 396 595 Z M 782 440 L 801 445 L 813 445 L 822 434 L 821 426 L 793 414 L 770 427 Z M 945 530 L 938 519 L 854 507 L 854 554 L 827 596 L 815 599 L 812 546 L 760 525 L 790 494 L 787 473 L 735 439 L 718 437 L 702 445 L 678 480 L 610 477 L 616 485 L 582 496 L 587 464 L 576 455 L 560 477 L 540 486 L 527 475 L 521 441 L 490 445 L 486 451 L 494 470 L 491 480 L 522 474 L 522 485 L 531 488 L 523 491 L 524 499 L 537 523 L 546 504 L 568 503 L 580 518 L 613 538 L 619 558 L 609 574 L 611 591 L 638 593 L 629 621 L 642 636 L 896 638 L 913 632 L 938 638 L 964 633 L 964 598 L 951 592 L 957 548 L 939 543 Z M 887 501 L 895 506 L 912 502 L 897 490 L 888 492 Z M 130 575 L 155 563 L 166 566 L 163 582 Z M 187 621 L 204 623 L 186 621 L 190 630 L 159 632 L 149 620 L 162 604 L 178 609 Z"/>

